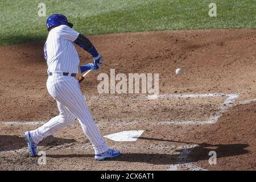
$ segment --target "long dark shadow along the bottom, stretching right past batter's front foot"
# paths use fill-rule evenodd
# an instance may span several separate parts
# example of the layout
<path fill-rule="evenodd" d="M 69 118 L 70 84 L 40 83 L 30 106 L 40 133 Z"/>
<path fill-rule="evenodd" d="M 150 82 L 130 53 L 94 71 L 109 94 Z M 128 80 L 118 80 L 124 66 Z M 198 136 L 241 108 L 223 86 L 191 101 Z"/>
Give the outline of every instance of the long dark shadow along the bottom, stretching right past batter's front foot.
<path fill-rule="evenodd" d="M 156 140 L 156 141 L 164 141 L 164 142 L 176 142 L 183 143 L 175 140 L 168 139 L 158 139 L 158 138 L 145 138 L 140 137 L 139 139 L 146 140 Z M 191 143 L 188 143 L 191 144 Z M 139 151 L 138 153 L 122 153 L 118 158 L 110 159 L 114 161 L 120 162 L 141 162 L 141 163 L 149 163 L 149 164 L 176 164 L 176 163 L 191 163 L 197 162 L 199 160 L 208 160 L 210 158 L 209 152 L 216 151 L 217 158 L 224 158 L 227 156 L 237 156 L 247 154 L 245 148 L 249 147 L 249 144 L 209 144 L 209 143 L 199 143 L 193 150 L 189 153 L 188 156 L 185 156 L 185 159 L 180 160 L 180 153 L 184 151 L 184 149 L 179 150 L 168 150 L 168 148 L 159 147 L 158 153 L 146 154 Z M 122 151 L 121 151 L 122 152 Z M 68 154 L 68 155 L 48 155 L 49 158 L 93 158 L 92 154 Z"/>

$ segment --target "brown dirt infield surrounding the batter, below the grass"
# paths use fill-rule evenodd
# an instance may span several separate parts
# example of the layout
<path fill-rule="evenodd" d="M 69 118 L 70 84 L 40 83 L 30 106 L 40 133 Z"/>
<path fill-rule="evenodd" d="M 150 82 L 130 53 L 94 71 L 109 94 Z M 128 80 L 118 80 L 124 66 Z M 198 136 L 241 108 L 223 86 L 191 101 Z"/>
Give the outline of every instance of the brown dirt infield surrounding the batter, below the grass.
<path fill-rule="evenodd" d="M 161 97 L 98 94 L 97 74 L 81 84 L 102 135 L 144 130 L 114 142 L 114 160 L 95 162 L 79 122 L 39 144 L 29 158 L 23 132 L 57 115 L 46 89 L 44 42 L 0 47 L 0 169 L 256 170 L 256 30 L 196 30 L 89 36 L 105 57 L 101 72 L 159 73 Z M 79 49 L 81 64 L 92 60 Z M 176 76 L 175 69 L 183 68 Z M 210 165 L 209 152 L 217 164 Z"/>

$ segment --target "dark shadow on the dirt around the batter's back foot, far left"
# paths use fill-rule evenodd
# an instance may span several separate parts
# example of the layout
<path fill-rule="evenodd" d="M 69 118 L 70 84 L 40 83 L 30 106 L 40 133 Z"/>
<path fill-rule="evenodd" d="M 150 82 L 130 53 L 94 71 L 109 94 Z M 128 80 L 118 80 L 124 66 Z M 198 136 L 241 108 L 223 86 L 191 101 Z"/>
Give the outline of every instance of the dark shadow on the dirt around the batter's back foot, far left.
<path fill-rule="evenodd" d="M 40 142 L 40 146 L 58 146 L 65 143 L 77 142 L 75 139 L 64 139 L 49 136 Z M 18 150 L 26 147 L 27 143 L 23 137 L 16 135 L 0 135 L 0 151 Z"/>

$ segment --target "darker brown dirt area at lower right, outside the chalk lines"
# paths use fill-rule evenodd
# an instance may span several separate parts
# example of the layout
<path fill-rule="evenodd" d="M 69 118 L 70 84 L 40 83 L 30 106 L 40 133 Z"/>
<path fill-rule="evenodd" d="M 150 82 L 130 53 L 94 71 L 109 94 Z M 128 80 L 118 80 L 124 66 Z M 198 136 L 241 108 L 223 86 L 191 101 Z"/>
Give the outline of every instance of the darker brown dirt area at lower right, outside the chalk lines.
<path fill-rule="evenodd" d="M 214 170 L 255 170 L 256 168 L 256 104 L 238 105 L 226 112 L 212 126 L 196 131 L 200 148 L 190 154 L 197 159 L 209 151 L 216 151 L 217 164 L 209 165 L 208 159 L 200 166 Z"/>

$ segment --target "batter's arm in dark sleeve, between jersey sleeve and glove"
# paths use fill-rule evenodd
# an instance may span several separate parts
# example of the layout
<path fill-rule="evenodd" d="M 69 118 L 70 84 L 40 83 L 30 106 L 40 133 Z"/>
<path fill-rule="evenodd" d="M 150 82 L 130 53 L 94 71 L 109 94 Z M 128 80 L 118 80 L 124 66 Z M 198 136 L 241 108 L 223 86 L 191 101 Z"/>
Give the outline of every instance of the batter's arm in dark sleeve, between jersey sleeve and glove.
<path fill-rule="evenodd" d="M 87 51 L 88 53 L 90 53 L 94 60 L 100 59 L 100 54 L 98 53 L 97 49 L 84 35 L 79 34 L 74 43 L 80 46 L 81 48 L 85 49 L 85 51 Z"/>

